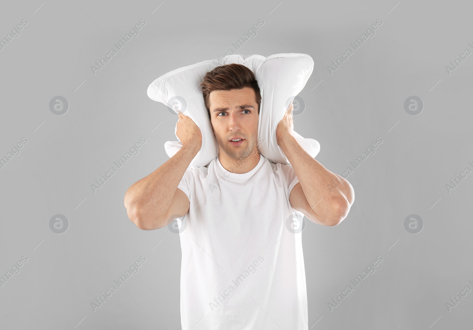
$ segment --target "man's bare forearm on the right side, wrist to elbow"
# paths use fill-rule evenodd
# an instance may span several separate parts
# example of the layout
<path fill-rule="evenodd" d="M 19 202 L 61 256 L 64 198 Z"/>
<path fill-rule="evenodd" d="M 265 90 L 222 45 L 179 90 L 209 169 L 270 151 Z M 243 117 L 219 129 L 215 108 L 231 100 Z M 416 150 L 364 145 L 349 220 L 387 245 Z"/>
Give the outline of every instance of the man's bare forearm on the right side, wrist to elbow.
<path fill-rule="evenodd" d="M 354 200 L 350 183 L 312 158 L 291 134 L 286 134 L 278 143 L 296 172 L 315 217 L 344 218 Z"/>

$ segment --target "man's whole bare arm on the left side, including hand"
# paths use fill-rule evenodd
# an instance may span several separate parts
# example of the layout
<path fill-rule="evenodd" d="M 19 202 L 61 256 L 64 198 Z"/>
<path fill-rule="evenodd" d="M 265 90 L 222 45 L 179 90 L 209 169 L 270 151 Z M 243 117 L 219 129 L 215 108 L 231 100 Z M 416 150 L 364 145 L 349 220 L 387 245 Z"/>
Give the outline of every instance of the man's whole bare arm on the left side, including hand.
<path fill-rule="evenodd" d="M 171 215 L 184 216 L 189 211 L 189 199 L 177 186 L 199 152 L 202 137 L 193 120 L 182 114 L 179 115 L 176 134 L 183 147 L 125 193 L 123 204 L 128 217 L 142 230 L 162 228 L 173 220 L 168 219 Z"/>

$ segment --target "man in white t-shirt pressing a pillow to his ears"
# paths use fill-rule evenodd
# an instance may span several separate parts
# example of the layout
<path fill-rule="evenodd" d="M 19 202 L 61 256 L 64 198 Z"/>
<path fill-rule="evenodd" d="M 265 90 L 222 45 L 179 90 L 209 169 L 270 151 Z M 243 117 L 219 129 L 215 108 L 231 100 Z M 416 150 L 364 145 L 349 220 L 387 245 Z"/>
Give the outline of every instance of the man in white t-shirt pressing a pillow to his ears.
<path fill-rule="evenodd" d="M 216 67 L 201 90 L 219 156 L 188 168 L 202 136 L 179 112 L 183 147 L 127 190 L 127 214 L 143 230 L 182 218 L 183 330 L 307 330 L 302 214 L 337 225 L 353 204 L 353 188 L 297 143 L 292 106 L 275 132 L 291 165 L 258 152 L 261 94 L 244 65 Z"/>

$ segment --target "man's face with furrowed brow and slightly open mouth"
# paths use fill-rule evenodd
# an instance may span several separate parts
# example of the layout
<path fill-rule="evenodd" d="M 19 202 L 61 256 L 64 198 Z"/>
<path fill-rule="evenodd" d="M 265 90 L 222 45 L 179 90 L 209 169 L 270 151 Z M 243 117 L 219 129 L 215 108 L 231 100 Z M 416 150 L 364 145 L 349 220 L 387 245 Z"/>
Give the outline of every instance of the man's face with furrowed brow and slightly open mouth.
<path fill-rule="evenodd" d="M 219 144 L 219 152 L 229 158 L 246 158 L 256 148 L 258 139 L 258 104 L 254 90 L 214 90 L 210 92 L 210 122 Z M 230 140 L 244 139 L 240 145 Z"/>

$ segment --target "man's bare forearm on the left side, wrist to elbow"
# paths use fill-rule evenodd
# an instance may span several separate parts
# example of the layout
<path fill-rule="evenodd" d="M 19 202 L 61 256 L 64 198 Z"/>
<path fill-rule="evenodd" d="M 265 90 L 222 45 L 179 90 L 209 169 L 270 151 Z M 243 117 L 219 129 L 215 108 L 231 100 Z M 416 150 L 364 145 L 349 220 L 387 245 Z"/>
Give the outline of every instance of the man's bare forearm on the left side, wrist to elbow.
<path fill-rule="evenodd" d="M 159 221 L 166 215 L 184 172 L 200 149 L 197 143 L 184 143 L 168 161 L 131 185 L 125 193 L 127 213 L 139 219 Z"/>

